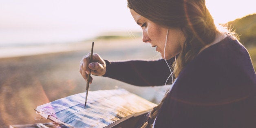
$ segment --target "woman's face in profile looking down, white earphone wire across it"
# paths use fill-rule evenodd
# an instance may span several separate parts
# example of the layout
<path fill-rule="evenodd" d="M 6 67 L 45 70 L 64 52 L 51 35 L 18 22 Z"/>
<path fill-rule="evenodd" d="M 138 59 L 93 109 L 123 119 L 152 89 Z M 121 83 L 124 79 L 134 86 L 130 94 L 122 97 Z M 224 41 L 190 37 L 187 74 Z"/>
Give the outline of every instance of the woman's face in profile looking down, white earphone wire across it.
<path fill-rule="evenodd" d="M 185 36 L 180 28 L 169 28 L 168 40 L 166 43 L 166 50 L 164 54 L 164 46 L 166 42 L 166 34 L 168 27 L 160 26 L 154 22 L 144 18 L 143 16 L 136 13 L 134 10 L 130 9 L 132 17 L 135 22 L 141 26 L 143 31 L 142 41 L 145 43 L 150 43 L 152 47 L 157 47 L 157 51 L 161 53 L 161 56 L 166 60 L 179 54 L 183 43 L 185 42 Z"/>

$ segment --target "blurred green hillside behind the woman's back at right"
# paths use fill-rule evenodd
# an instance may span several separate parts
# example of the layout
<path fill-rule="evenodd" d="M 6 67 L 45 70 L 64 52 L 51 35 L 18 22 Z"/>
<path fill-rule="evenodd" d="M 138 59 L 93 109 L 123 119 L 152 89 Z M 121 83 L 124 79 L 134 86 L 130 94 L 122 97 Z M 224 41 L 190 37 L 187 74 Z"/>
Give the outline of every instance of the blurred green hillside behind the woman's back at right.
<path fill-rule="evenodd" d="M 227 22 L 227 26 L 235 31 L 240 38 L 240 42 L 248 49 L 256 69 L 256 13 L 243 18 Z"/>

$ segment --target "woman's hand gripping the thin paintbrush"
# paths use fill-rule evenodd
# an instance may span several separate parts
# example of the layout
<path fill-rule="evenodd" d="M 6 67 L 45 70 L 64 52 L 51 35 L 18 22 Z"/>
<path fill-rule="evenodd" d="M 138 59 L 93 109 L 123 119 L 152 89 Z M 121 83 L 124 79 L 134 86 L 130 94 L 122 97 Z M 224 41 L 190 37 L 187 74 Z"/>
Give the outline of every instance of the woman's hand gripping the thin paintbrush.
<path fill-rule="evenodd" d="M 80 61 L 79 71 L 82 77 L 87 81 L 87 76 L 90 73 L 93 75 L 102 76 L 106 73 L 106 62 L 97 54 L 93 53 L 93 61 L 90 62 L 90 53 L 85 55 Z M 93 77 L 90 77 L 90 84 L 93 82 Z"/>

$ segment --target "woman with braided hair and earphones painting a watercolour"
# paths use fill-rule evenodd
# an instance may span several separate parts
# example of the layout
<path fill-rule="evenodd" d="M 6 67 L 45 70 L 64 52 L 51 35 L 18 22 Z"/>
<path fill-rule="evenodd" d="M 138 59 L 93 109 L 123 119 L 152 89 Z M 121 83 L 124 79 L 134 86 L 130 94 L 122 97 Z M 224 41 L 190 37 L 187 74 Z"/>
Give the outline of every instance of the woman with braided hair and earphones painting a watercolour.
<path fill-rule="evenodd" d="M 84 79 L 91 69 L 93 75 L 157 86 L 170 75 L 172 86 L 144 128 L 256 128 L 249 54 L 231 32 L 216 28 L 205 0 L 128 0 L 128 7 L 143 42 L 156 46 L 164 60 L 109 62 L 93 54 L 88 64 L 88 54 L 80 63 Z"/>

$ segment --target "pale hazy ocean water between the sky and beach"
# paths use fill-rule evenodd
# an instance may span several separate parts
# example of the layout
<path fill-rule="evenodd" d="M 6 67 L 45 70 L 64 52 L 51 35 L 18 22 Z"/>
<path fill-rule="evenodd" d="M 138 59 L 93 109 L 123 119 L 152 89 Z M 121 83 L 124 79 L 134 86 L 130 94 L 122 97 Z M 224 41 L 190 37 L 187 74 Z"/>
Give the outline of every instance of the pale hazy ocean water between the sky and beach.
<path fill-rule="evenodd" d="M 96 32 L 48 29 L 0 29 L 0 58 L 79 50 Z"/>

